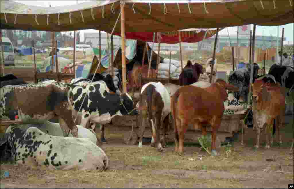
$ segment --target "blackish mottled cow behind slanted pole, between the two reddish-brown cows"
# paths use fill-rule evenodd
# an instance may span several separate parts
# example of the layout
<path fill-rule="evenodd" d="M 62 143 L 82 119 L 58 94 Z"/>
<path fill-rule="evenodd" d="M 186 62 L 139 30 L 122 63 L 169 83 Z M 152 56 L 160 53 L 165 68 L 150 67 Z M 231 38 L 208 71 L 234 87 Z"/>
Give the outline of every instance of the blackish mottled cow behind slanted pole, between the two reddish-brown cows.
<path fill-rule="evenodd" d="M 253 65 L 253 82 L 258 77 L 258 64 Z M 239 88 L 239 92 L 234 92 L 236 99 L 242 99 L 244 102 L 248 102 L 248 93 L 250 85 L 250 71 L 251 65 L 247 64 L 245 67 L 235 70 L 230 73 L 228 82 L 231 85 Z"/>

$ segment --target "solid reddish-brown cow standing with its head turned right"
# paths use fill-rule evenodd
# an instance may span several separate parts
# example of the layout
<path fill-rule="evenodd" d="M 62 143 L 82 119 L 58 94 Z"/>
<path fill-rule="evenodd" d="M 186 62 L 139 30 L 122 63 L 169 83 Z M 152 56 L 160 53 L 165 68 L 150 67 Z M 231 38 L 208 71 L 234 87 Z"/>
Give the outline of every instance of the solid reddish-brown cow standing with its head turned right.
<path fill-rule="evenodd" d="M 194 124 L 202 129 L 202 134 L 206 135 L 206 126 L 212 126 L 212 155 L 216 153 L 216 132 L 220 127 L 223 112 L 225 110 L 224 101 L 228 98 L 226 90 L 238 90 L 237 87 L 226 83 L 222 79 L 217 79 L 215 83 L 206 88 L 186 85 L 178 89 L 171 97 L 171 112 L 173 115 L 175 132 L 175 151 L 181 155 L 183 152 L 183 140 L 188 124 Z"/>

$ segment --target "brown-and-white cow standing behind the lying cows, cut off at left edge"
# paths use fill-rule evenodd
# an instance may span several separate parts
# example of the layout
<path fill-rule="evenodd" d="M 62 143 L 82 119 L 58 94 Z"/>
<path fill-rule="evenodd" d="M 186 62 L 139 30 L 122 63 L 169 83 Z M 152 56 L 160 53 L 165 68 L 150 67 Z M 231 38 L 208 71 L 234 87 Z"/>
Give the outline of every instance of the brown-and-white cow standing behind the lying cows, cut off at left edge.
<path fill-rule="evenodd" d="M 0 118 L 24 123 L 44 121 L 59 116 L 65 133 L 78 137 L 78 128 L 72 119 L 72 107 L 68 99 L 70 87 L 49 80 L 30 85 L 6 85 L 0 88 Z"/>

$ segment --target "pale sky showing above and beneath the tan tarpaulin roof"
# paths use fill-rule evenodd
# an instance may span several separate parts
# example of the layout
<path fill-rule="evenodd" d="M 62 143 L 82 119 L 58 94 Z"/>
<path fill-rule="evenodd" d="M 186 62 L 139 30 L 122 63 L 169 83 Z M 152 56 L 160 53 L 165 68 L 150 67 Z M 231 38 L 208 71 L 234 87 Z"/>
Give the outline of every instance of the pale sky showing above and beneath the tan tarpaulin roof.
<path fill-rule="evenodd" d="M 15 0 L 16 1 L 16 0 Z M 60 1 L 60 0 L 57 0 L 57 1 L 46 1 L 46 0 L 42 0 L 42 1 L 38 1 L 38 0 L 35 0 L 35 1 L 16 1 L 16 2 L 19 2 L 19 3 L 23 3 L 23 4 L 28 4 L 28 5 L 34 5 L 34 6 L 43 6 L 43 7 L 49 7 L 49 5 L 51 4 L 51 6 L 66 6 L 66 5 L 73 5 L 73 4 L 79 4 L 79 3 L 83 3 L 83 2 L 87 2 L 87 1 L 72 1 L 72 0 L 69 0 L 69 1 Z M 144 2 L 144 1 L 143 1 Z M 168 3 L 168 2 L 171 2 L 171 1 L 157 1 L 157 2 L 160 2 L 160 3 Z M 188 1 L 186 1 L 188 2 Z M 193 2 L 193 1 L 191 1 Z M 279 33 L 279 37 L 282 36 L 282 28 L 285 28 L 284 29 L 284 37 L 286 38 L 286 41 L 284 42 L 284 44 L 293 44 L 293 41 L 294 41 L 294 37 L 293 37 L 293 28 L 294 28 L 294 25 L 293 23 L 290 23 L 290 24 L 286 24 L 286 25 L 283 25 L 283 26 L 280 26 L 279 27 L 279 32 L 278 32 L 278 26 L 256 26 L 256 35 L 258 36 L 277 36 L 277 34 Z M 253 25 L 251 25 L 251 30 L 253 30 Z M 83 41 L 83 33 L 84 32 L 98 32 L 97 30 L 93 30 L 93 29 L 88 29 L 88 30 L 80 30 L 80 38 L 81 40 Z M 228 32 L 230 35 L 234 35 L 234 34 L 237 34 L 237 27 L 229 27 L 228 30 L 227 29 L 224 29 L 222 31 L 220 31 L 220 35 L 228 35 Z"/>

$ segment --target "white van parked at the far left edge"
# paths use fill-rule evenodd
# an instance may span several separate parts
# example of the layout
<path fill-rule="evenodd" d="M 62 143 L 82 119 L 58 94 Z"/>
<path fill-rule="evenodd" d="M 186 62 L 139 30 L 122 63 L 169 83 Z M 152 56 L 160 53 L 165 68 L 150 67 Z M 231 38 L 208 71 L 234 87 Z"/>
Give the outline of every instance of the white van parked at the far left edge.
<path fill-rule="evenodd" d="M 4 50 L 3 51 L 4 65 L 5 66 L 15 66 L 15 64 L 14 64 L 14 47 L 8 37 L 2 37 L 2 46 L 3 46 L 3 50 Z M 1 53 L 1 63 L 3 63 L 1 50 L 2 50 L 2 47 L 0 47 L 0 53 Z"/>

